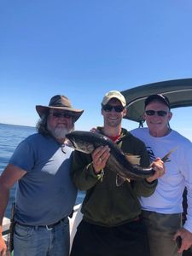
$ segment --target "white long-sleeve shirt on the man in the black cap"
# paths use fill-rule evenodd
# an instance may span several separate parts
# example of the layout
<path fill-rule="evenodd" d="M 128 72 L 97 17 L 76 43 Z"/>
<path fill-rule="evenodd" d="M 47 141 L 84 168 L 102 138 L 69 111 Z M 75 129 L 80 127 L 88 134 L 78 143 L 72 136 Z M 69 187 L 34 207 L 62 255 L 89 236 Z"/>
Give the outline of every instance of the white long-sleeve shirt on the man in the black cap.
<path fill-rule="evenodd" d="M 183 189 L 186 187 L 188 214 L 184 228 L 192 232 L 192 143 L 177 131 L 165 137 L 152 137 L 148 128 L 137 128 L 131 134 L 145 143 L 151 161 L 175 148 L 165 163 L 165 175 L 158 178 L 154 194 L 141 197 L 143 210 L 167 214 L 183 212 Z"/>

